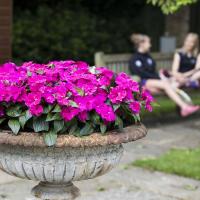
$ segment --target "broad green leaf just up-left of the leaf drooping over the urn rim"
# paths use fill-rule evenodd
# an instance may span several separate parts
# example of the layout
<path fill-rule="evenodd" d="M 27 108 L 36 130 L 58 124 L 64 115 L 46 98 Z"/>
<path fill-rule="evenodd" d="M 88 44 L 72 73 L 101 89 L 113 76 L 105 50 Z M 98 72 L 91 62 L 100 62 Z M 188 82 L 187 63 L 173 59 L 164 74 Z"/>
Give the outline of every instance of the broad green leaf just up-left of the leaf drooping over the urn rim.
<path fill-rule="evenodd" d="M 34 118 L 33 129 L 36 133 L 49 130 L 49 123 L 45 121 L 44 117 Z"/>

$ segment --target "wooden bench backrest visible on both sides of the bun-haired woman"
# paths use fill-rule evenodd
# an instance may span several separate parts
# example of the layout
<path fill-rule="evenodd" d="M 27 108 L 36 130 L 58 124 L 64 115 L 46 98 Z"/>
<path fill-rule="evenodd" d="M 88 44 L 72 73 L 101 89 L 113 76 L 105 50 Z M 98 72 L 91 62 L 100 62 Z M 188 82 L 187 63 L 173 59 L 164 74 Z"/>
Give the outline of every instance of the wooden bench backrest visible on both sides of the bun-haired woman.
<path fill-rule="evenodd" d="M 157 69 L 171 70 L 173 54 L 163 53 L 151 53 L 157 64 Z M 119 72 L 129 72 L 129 60 L 132 54 L 104 54 L 103 52 L 97 52 L 95 54 L 95 66 L 106 66 L 109 69 Z"/>

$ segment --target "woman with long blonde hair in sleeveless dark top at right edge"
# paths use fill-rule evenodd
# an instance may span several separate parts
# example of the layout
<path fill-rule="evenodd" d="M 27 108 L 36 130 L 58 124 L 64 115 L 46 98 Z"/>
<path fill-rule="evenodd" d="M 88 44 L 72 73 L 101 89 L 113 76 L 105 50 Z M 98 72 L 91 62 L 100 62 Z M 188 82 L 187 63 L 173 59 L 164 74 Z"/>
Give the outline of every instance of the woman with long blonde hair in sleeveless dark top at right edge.
<path fill-rule="evenodd" d="M 189 33 L 183 47 L 174 55 L 172 74 L 180 85 L 188 87 L 200 87 L 200 55 L 199 37 L 195 33 Z"/>

